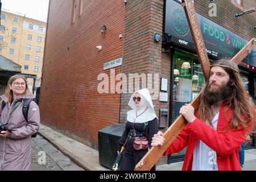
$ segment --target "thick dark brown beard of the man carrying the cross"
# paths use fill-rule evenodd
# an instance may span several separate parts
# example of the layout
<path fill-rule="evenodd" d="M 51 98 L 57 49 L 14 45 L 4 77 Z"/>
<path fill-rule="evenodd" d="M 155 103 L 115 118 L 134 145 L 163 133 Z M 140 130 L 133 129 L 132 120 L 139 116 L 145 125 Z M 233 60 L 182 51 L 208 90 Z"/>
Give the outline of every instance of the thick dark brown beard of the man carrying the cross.
<path fill-rule="evenodd" d="M 209 82 L 205 86 L 204 100 L 207 105 L 215 105 L 219 101 L 226 100 L 232 95 L 232 84 L 230 81 L 221 84 L 217 88 L 211 88 Z"/>

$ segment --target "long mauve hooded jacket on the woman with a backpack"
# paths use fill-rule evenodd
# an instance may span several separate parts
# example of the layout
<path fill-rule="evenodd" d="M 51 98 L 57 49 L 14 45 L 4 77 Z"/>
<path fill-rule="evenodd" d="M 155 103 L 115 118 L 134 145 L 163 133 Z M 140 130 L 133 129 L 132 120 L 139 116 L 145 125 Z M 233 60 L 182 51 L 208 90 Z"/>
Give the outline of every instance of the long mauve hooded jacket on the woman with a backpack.
<path fill-rule="evenodd" d="M 1 96 L 3 100 L 5 96 Z M 12 104 L 8 103 L 2 110 L 0 105 L 0 121 L 7 122 L 11 110 L 18 101 L 23 101 L 32 96 L 18 96 Z M 1 101 L 2 102 L 2 101 Z M 30 102 L 28 109 L 28 122 L 23 116 L 21 103 L 10 115 L 7 137 L 0 137 L 0 171 L 2 170 L 30 170 L 31 165 L 31 135 L 39 130 L 39 107 L 34 101 Z"/>

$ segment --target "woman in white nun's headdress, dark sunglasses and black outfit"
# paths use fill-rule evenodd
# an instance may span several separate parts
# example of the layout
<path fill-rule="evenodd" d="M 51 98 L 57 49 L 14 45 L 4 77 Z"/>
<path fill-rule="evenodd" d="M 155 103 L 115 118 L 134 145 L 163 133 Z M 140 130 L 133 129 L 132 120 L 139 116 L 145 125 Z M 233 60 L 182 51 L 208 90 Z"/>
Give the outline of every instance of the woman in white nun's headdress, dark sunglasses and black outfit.
<path fill-rule="evenodd" d="M 151 148 L 152 137 L 158 132 L 157 117 L 148 89 L 133 93 L 128 105 L 132 110 L 127 112 L 126 128 L 118 142 L 120 149 L 125 144 L 121 171 L 134 170 L 137 163 Z M 135 137 L 146 137 L 148 148 L 136 150 L 133 146 Z M 155 166 L 151 170 L 155 170 Z"/>

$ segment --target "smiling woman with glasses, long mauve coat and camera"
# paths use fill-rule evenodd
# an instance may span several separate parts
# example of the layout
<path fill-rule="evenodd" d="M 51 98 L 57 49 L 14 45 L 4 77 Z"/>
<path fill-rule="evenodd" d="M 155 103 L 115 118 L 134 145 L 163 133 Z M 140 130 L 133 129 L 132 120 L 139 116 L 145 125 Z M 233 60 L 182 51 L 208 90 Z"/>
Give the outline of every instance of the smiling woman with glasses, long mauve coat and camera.
<path fill-rule="evenodd" d="M 38 105 L 31 101 L 26 120 L 23 103 L 32 98 L 26 78 L 10 77 L 0 105 L 0 121 L 5 124 L 0 126 L 0 171 L 30 170 L 31 135 L 39 130 L 40 114 Z"/>

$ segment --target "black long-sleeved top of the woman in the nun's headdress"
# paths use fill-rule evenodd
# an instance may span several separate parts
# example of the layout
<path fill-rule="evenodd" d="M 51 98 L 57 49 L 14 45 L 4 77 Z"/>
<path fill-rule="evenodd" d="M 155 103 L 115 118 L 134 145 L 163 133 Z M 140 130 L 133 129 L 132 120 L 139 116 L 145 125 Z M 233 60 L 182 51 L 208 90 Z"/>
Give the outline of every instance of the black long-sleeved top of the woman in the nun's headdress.
<path fill-rule="evenodd" d="M 125 143 L 125 140 L 127 138 L 127 135 L 130 131 L 130 129 L 134 129 L 138 132 L 143 132 L 147 139 L 148 139 L 148 143 L 151 147 L 151 141 L 152 141 L 152 137 L 154 137 L 154 134 L 158 133 L 158 119 L 155 118 L 152 121 L 148 121 L 146 130 L 143 131 L 144 129 L 144 125 L 145 123 L 133 123 L 133 122 L 126 122 L 126 126 L 125 126 L 125 131 L 123 131 L 122 137 L 119 139 L 118 144 L 119 144 L 119 150 L 121 150 L 121 147 L 123 146 L 123 144 Z"/>

